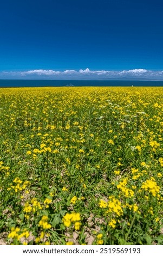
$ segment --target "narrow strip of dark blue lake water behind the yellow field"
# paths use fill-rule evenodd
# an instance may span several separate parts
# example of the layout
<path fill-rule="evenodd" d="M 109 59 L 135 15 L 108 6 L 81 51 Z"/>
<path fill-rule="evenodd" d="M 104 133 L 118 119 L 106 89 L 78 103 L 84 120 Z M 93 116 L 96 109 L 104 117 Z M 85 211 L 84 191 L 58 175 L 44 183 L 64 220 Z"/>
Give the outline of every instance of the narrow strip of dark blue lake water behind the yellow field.
<path fill-rule="evenodd" d="M 64 87 L 64 86 L 147 86 L 162 87 L 163 81 L 121 80 L 0 80 L 0 87 Z"/>

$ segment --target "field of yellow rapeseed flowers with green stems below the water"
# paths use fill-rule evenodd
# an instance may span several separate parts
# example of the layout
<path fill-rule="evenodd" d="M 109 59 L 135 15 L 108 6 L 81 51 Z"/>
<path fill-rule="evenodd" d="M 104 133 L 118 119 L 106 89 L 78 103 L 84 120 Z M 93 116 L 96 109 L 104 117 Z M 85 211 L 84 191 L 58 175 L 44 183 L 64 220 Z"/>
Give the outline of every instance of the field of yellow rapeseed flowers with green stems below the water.
<path fill-rule="evenodd" d="M 0 241 L 163 245 L 162 88 L 0 89 Z"/>

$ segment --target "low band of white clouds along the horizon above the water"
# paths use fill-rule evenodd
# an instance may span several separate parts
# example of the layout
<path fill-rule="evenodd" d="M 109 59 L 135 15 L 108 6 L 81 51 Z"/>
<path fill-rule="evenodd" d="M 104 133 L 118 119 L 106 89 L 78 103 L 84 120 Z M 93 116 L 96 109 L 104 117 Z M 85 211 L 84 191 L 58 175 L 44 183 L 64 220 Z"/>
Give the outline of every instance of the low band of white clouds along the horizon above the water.
<path fill-rule="evenodd" d="M 28 71 L 1 71 L 1 79 L 51 79 L 51 80 L 103 80 L 103 79 L 138 79 L 138 80 L 163 80 L 163 70 L 152 71 L 146 69 L 132 70 L 43 70 Z"/>

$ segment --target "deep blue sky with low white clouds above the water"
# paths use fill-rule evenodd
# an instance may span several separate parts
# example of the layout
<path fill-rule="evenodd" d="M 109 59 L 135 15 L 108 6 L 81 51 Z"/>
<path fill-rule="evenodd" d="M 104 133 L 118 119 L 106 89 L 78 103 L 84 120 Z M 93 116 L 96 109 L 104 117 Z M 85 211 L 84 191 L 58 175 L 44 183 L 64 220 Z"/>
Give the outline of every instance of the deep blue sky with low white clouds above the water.
<path fill-rule="evenodd" d="M 162 1 L 6 0 L 0 78 L 163 79 Z"/>

